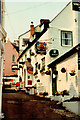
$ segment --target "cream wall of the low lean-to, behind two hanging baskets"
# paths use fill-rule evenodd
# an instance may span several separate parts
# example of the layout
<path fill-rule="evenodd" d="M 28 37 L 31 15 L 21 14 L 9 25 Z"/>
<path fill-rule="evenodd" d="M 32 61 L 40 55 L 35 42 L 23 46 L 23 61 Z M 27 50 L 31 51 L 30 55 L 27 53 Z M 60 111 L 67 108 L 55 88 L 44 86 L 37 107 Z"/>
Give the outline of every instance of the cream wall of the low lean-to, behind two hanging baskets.
<path fill-rule="evenodd" d="M 69 90 L 73 96 L 78 95 L 78 56 L 77 54 L 65 59 L 57 65 L 58 76 L 57 76 L 57 90 Z M 62 73 L 61 69 L 65 68 L 66 72 Z M 69 73 L 71 70 L 75 70 L 76 74 L 71 76 Z"/>

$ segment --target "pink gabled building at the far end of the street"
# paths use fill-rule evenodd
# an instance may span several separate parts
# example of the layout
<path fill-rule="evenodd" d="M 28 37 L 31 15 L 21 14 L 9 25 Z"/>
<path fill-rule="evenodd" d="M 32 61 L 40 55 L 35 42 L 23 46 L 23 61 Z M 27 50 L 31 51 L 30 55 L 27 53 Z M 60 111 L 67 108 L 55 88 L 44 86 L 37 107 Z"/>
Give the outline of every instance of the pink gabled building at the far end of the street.
<path fill-rule="evenodd" d="M 16 83 L 18 81 L 18 63 L 19 47 L 8 39 L 4 44 L 4 84 Z"/>

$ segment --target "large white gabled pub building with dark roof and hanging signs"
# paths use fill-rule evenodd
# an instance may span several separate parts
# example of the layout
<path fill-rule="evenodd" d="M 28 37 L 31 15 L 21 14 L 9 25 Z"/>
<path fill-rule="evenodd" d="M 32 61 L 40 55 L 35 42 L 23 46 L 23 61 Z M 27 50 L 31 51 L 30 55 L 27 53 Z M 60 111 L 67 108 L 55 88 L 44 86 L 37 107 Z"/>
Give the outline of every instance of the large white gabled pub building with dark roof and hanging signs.
<path fill-rule="evenodd" d="M 57 91 L 56 80 L 54 82 L 53 78 L 56 79 L 58 71 L 56 65 L 52 67 L 48 65 L 80 43 L 80 13 L 73 9 L 70 2 L 52 21 L 42 21 L 39 25 L 40 31 L 38 34 L 34 32 L 30 45 L 21 53 L 18 62 L 25 62 L 25 58 L 31 59 L 33 85 L 36 86 L 37 94 L 48 92 L 51 96 Z M 22 73 L 24 76 L 24 72 L 20 72 Z M 24 80 L 23 77 L 22 80 L 27 81 L 28 78 Z"/>

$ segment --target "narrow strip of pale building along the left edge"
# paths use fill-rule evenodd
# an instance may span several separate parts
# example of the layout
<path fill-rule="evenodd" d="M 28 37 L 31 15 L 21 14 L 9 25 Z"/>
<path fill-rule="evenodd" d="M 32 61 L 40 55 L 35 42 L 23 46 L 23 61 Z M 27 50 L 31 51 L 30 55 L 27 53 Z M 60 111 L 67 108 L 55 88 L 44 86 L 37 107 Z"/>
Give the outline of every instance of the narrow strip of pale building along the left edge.
<path fill-rule="evenodd" d="M 4 30 L 4 2 L 0 0 L 0 118 L 2 117 L 2 78 L 3 78 L 3 59 L 4 59 L 4 42 L 6 31 Z"/>

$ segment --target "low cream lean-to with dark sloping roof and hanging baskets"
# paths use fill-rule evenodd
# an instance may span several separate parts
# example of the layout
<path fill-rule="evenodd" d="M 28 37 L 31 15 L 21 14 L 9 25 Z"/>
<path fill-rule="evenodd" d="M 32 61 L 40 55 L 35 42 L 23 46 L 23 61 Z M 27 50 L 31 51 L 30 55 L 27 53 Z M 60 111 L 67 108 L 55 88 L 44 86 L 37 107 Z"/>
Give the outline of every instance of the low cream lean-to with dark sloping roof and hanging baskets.
<path fill-rule="evenodd" d="M 58 72 L 54 76 L 53 68 Z M 69 91 L 74 97 L 80 96 L 80 43 L 48 65 L 52 68 L 52 85 L 58 92 Z M 55 86 L 54 86 L 55 84 Z"/>

